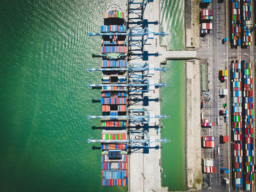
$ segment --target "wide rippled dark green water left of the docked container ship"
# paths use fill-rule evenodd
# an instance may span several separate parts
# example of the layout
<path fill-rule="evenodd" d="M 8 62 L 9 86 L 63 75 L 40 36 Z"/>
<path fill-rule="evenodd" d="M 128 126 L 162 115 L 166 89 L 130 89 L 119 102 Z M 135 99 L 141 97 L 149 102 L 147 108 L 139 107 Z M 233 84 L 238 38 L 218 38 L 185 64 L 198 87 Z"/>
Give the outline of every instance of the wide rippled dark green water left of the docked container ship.
<path fill-rule="evenodd" d="M 118 2 L 116 2 L 118 3 Z M 0 191 L 127 191 L 100 186 L 98 31 L 110 1 L 1 1 Z M 99 147 L 99 145 L 98 145 Z"/>

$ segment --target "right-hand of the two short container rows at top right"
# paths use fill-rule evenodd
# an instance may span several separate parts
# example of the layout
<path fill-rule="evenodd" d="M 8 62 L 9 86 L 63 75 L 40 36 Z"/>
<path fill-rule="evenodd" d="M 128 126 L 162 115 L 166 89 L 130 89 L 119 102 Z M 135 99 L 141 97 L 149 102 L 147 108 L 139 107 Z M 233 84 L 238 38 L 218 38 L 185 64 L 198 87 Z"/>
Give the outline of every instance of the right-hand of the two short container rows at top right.
<path fill-rule="evenodd" d="M 251 0 L 242 0 L 242 45 L 249 46 L 251 44 L 251 32 L 249 30 L 249 22 L 252 20 Z"/>

